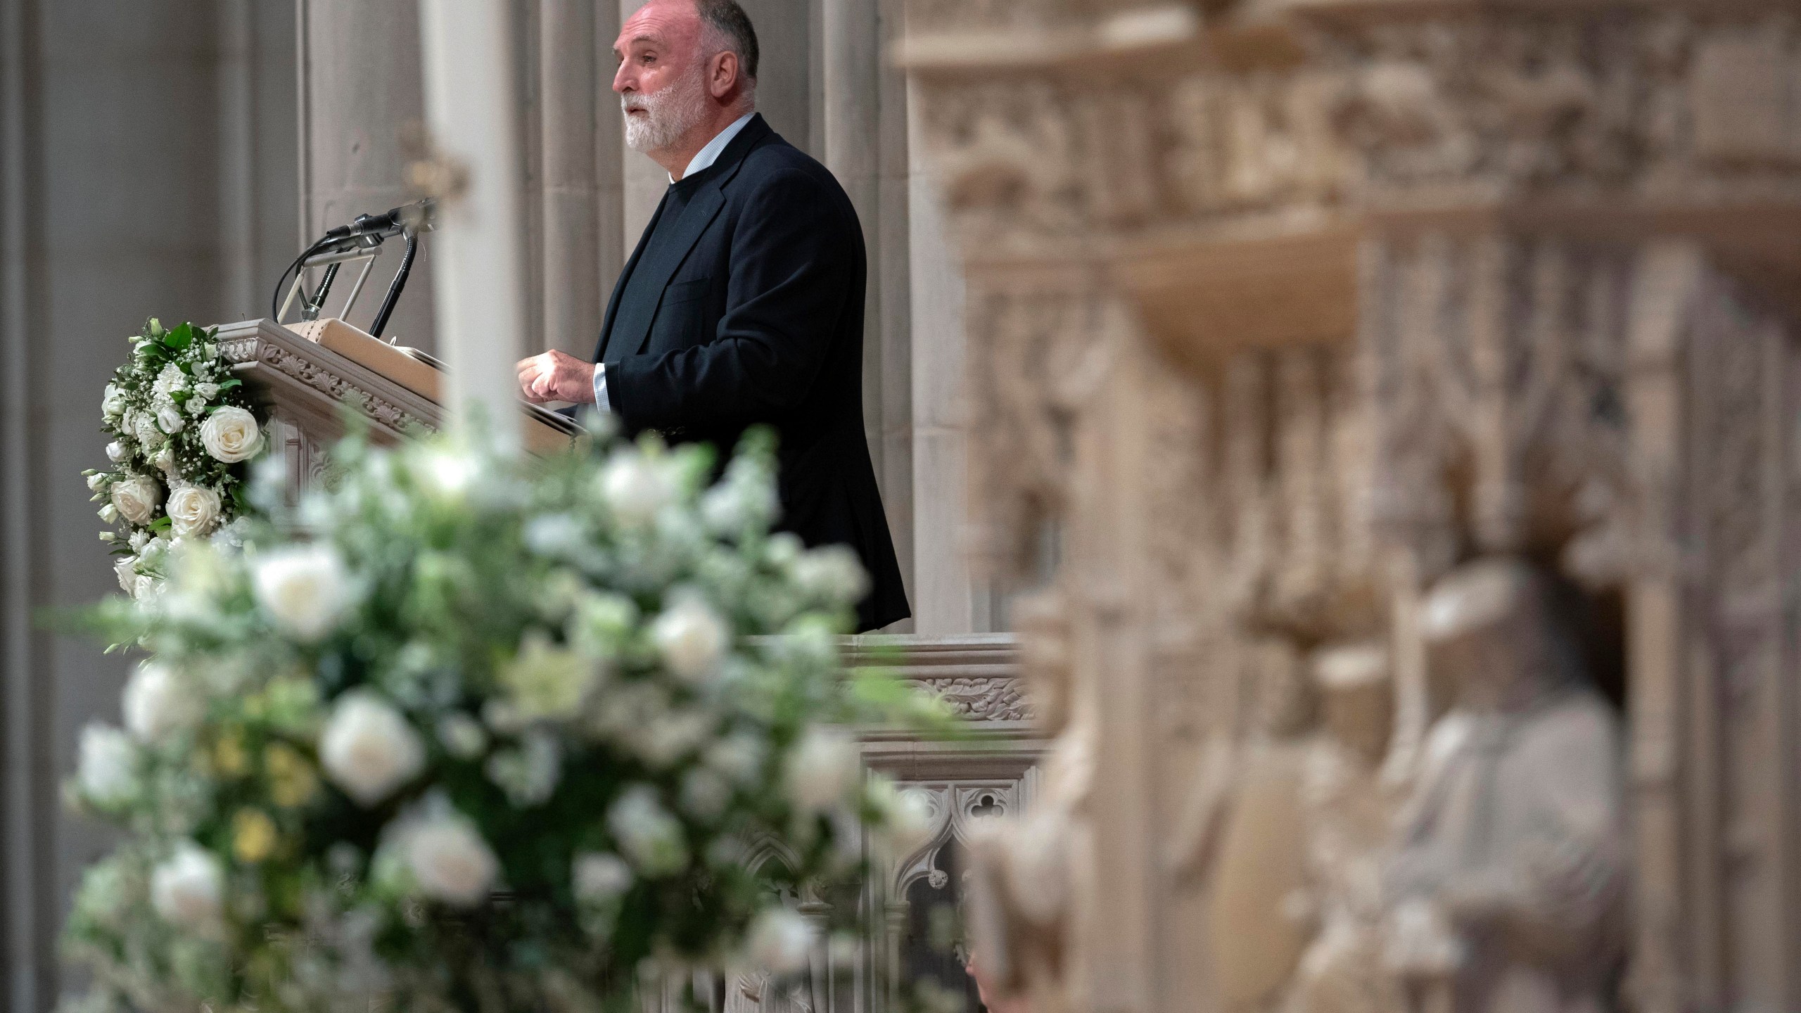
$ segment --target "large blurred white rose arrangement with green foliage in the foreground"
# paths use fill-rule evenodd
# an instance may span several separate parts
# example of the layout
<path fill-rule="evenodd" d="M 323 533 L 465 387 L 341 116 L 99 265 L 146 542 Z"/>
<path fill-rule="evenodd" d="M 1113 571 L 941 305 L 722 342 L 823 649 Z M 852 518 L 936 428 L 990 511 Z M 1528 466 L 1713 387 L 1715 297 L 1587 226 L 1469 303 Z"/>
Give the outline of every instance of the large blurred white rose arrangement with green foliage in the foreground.
<path fill-rule="evenodd" d="M 928 831 L 845 728 L 947 719 L 843 672 L 861 571 L 769 532 L 762 436 L 711 487 L 654 440 L 333 467 L 297 501 L 258 469 L 241 537 L 146 544 L 160 593 L 92 613 L 151 658 L 68 784 L 128 831 L 68 919 L 83 1009 L 623 1009 L 648 970 L 792 973 L 859 928 L 774 901 L 857 898 Z M 121 514 L 155 499 L 126 481 Z"/>

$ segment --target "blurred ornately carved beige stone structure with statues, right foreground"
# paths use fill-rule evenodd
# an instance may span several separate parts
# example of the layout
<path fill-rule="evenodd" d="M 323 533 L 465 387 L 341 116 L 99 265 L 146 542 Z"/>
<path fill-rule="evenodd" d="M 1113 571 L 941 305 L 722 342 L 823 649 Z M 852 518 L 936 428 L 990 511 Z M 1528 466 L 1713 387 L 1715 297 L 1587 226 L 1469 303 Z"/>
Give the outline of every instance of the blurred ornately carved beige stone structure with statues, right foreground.
<path fill-rule="evenodd" d="M 906 27 L 969 281 L 976 548 L 1039 586 L 1023 678 L 1057 735 L 976 871 L 1014 984 L 1801 1008 L 1792 7 L 913 0 Z M 1434 633 L 1482 571 L 1511 604 Z M 1525 636 L 1540 586 L 1558 647 Z M 1504 667 L 1446 663 L 1461 638 Z M 1380 759 L 1259 719 L 1340 651 L 1385 658 Z M 1525 712 L 1470 710 L 1507 671 Z M 1525 743 L 1579 804 L 1509 780 Z M 1299 847 L 1243 872 L 1270 827 Z M 1542 854 L 1450 903 L 1421 869 L 1459 835 Z M 1543 952 L 1495 943 L 1516 916 Z"/>

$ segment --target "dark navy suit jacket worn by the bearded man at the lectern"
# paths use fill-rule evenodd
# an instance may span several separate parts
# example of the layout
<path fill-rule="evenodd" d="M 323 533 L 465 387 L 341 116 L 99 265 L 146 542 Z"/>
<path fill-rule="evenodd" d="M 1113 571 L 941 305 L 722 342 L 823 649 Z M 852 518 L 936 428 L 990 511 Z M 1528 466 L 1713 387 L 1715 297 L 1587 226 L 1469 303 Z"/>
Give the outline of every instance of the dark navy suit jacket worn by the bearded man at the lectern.
<path fill-rule="evenodd" d="M 863 629 L 910 615 L 863 436 L 863 229 L 825 166 L 753 117 L 679 216 L 665 193 L 607 303 L 594 360 L 627 433 L 731 452 L 753 424 L 780 436 L 782 528 L 852 546 L 872 591 Z M 681 186 L 681 184 L 677 184 Z M 650 236 L 665 233 L 656 256 Z M 621 314 L 638 272 L 661 292 Z M 614 324 L 625 321 L 623 326 Z"/>

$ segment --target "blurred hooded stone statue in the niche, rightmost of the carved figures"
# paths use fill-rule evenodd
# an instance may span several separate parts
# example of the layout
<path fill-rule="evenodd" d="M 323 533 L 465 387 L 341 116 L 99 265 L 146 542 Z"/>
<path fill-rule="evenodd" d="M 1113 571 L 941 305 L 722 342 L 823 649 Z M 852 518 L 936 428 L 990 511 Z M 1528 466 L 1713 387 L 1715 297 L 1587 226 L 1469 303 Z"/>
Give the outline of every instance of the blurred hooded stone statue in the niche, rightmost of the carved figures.
<path fill-rule="evenodd" d="M 1599 1013 L 1625 946 L 1619 721 L 1525 562 L 1453 570 L 1421 625 L 1457 698 L 1401 817 L 1385 957 L 1414 1009 Z"/>

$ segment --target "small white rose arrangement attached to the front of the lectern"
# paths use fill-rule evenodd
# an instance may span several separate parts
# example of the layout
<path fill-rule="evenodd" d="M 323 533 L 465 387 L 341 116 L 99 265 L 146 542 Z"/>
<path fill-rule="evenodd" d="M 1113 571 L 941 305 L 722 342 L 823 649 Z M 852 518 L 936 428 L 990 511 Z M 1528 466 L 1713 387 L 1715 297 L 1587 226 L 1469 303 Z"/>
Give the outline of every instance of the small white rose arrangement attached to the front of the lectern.
<path fill-rule="evenodd" d="M 265 443 L 263 420 L 211 330 L 151 319 L 106 384 L 101 422 L 112 467 L 83 472 L 112 528 L 101 541 L 119 557 L 119 588 L 151 593 L 173 541 L 207 537 L 247 510 L 245 461 Z"/>

